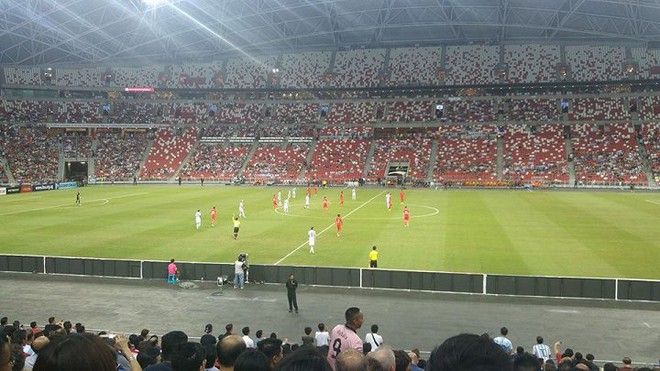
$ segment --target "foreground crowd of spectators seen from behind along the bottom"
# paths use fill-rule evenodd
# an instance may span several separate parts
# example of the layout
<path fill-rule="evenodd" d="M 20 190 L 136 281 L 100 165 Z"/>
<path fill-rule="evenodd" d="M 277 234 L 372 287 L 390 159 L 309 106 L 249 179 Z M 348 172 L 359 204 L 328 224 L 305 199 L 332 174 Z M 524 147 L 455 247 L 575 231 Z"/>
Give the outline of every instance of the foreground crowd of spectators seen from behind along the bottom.
<path fill-rule="evenodd" d="M 514 348 L 503 327 L 499 336 L 462 333 L 435 346 L 428 358 L 416 348 L 396 350 L 377 334 L 378 325 L 362 339 L 357 331 L 364 323 L 359 308 L 345 312 L 344 324 L 330 332 L 324 323 L 312 335 L 311 326 L 300 340 L 266 336 L 249 326 L 240 332 L 228 323 L 214 335 L 213 325 L 192 337 L 180 330 L 162 336 L 142 329 L 131 335 L 90 331 L 83 324 L 50 317 L 39 326 L 0 319 L 0 370 L 2 371 L 654 371 L 655 366 L 633 367 L 630 357 L 620 363 L 598 362 L 591 353 L 553 347 L 537 336 L 530 348 Z M 346 334 L 349 332 L 349 334 Z M 196 336 L 197 334 L 191 334 Z M 653 368 L 652 368 L 653 367 Z"/>

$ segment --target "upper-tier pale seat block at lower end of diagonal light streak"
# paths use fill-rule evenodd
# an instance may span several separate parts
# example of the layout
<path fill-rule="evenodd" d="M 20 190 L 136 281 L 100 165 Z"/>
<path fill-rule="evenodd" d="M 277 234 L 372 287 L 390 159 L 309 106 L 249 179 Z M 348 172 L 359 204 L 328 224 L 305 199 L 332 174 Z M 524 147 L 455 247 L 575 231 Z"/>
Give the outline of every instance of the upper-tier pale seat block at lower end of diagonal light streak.
<path fill-rule="evenodd" d="M 234 58 L 227 62 L 225 87 L 261 89 L 267 86 L 267 77 L 277 63 L 276 56 Z"/>

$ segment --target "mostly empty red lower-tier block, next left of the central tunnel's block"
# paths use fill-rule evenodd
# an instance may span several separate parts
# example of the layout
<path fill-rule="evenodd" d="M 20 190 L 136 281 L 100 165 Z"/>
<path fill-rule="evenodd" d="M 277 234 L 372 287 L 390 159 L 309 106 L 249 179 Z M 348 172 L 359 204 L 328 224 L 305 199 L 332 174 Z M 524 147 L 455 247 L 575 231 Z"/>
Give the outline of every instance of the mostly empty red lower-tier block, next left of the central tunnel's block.
<path fill-rule="evenodd" d="M 305 178 L 327 179 L 332 183 L 362 177 L 369 140 L 321 139 L 317 142 Z"/>

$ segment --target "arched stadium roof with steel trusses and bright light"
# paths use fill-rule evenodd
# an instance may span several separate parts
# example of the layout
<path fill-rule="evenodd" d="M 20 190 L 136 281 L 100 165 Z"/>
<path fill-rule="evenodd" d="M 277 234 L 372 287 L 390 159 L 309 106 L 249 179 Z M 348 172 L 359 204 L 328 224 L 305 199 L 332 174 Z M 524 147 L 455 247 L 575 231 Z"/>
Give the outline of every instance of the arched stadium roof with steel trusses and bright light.
<path fill-rule="evenodd" d="M 5 65 L 469 42 L 656 43 L 660 0 L 0 0 Z"/>

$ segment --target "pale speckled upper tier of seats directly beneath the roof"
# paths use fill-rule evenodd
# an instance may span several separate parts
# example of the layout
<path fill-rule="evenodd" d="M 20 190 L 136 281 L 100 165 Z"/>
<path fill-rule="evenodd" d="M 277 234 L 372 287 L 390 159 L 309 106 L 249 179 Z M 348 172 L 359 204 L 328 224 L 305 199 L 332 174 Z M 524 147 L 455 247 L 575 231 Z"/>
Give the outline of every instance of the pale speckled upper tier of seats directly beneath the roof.
<path fill-rule="evenodd" d="M 44 66 L 46 67 L 46 66 Z M 660 50 L 612 45 L 452 45 L 88 68 L 4 67 L 6 85 L 319 89 L 533 84 L 660 77 Z M 47 77 L 46 77 L 47 76 Z"/>

